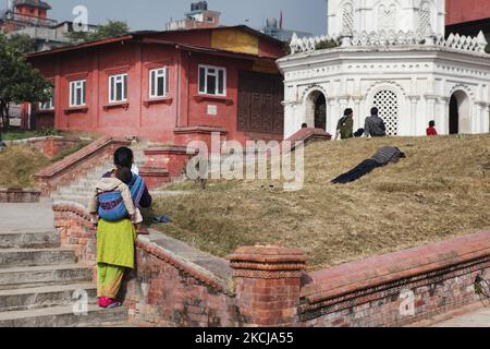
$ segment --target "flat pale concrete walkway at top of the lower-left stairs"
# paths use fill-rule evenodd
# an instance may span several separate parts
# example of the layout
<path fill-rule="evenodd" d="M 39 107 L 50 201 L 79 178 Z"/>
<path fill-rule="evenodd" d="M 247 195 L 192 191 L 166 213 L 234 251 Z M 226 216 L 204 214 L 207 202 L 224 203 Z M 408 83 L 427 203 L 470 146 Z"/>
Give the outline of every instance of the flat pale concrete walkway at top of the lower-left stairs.
<path fill-rule="evenodd" d="M 52 231 L 51 201 L 35 204 L 0 204 L 0 233 Z"/>

